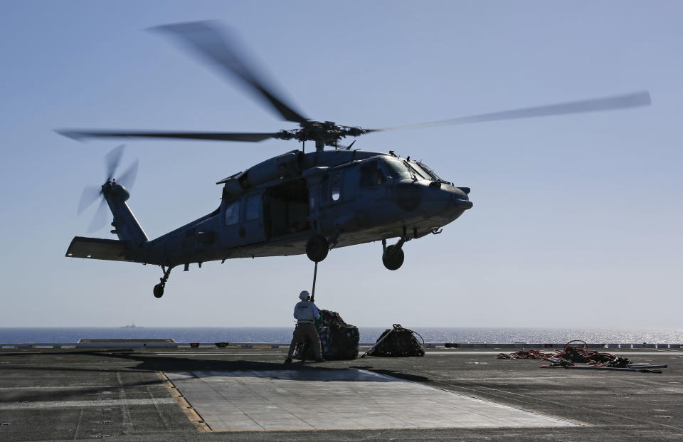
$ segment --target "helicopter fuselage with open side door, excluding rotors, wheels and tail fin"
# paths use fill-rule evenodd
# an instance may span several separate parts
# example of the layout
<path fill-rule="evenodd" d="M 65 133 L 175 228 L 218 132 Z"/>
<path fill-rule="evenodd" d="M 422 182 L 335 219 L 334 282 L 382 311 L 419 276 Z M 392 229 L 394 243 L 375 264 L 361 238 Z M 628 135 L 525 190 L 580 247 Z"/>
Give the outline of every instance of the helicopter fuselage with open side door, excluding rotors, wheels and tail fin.
<path fill-rule="evenodd" d="M 298 255 L 313 234 L 333 247 L 408 240 L 437 233 L 472 207 L 469 189 L 409 164 L 377 152 L 288 152 L 219 181 L 216 211 L 150 241 L 141 258 L 163 256 L 154 261 L 173 266 Z"/>

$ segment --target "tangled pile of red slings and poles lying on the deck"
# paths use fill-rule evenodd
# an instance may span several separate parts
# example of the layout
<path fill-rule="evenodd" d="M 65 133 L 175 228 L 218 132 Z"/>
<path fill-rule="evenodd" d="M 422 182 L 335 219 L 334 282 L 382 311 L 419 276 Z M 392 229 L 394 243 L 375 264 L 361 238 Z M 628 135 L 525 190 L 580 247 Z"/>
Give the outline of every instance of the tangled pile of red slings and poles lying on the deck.
<path fill-rule="evenodd" d="M 574 342 L 583 343 L 583 347 L 574 347 Z M 550 362 L 549 365 L 541 365 L 540 368 L 567 368 L 567 369 L 603 369 L 620 370 L 629 372 L 661 373 L 656 368 L 666 368 L 666 365 L 652 365 L 648 363 L 633 363 L 628 357 L 620 357 L 616 354 L 605 352 L 591 352 L 588 344 L 582 340 L 569 341 L 564 348 L 554 350 L 553 353 L 542 353 L 535 349 L 521 349 L 514 353 L 499 353 L 498 359 L 541 359 Z M 586 364 L 586 365 L 575 365 Z"/>

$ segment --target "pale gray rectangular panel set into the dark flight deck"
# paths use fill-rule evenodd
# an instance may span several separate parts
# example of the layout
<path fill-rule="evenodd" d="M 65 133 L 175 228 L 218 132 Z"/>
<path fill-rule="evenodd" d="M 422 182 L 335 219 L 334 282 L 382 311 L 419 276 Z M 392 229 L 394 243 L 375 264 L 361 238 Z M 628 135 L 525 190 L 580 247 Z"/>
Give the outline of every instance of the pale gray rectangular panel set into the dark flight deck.
<path fill-rule="evenodd" d="M 213 431 L 577 425 L 364 370 L 166 376 Z"/>

